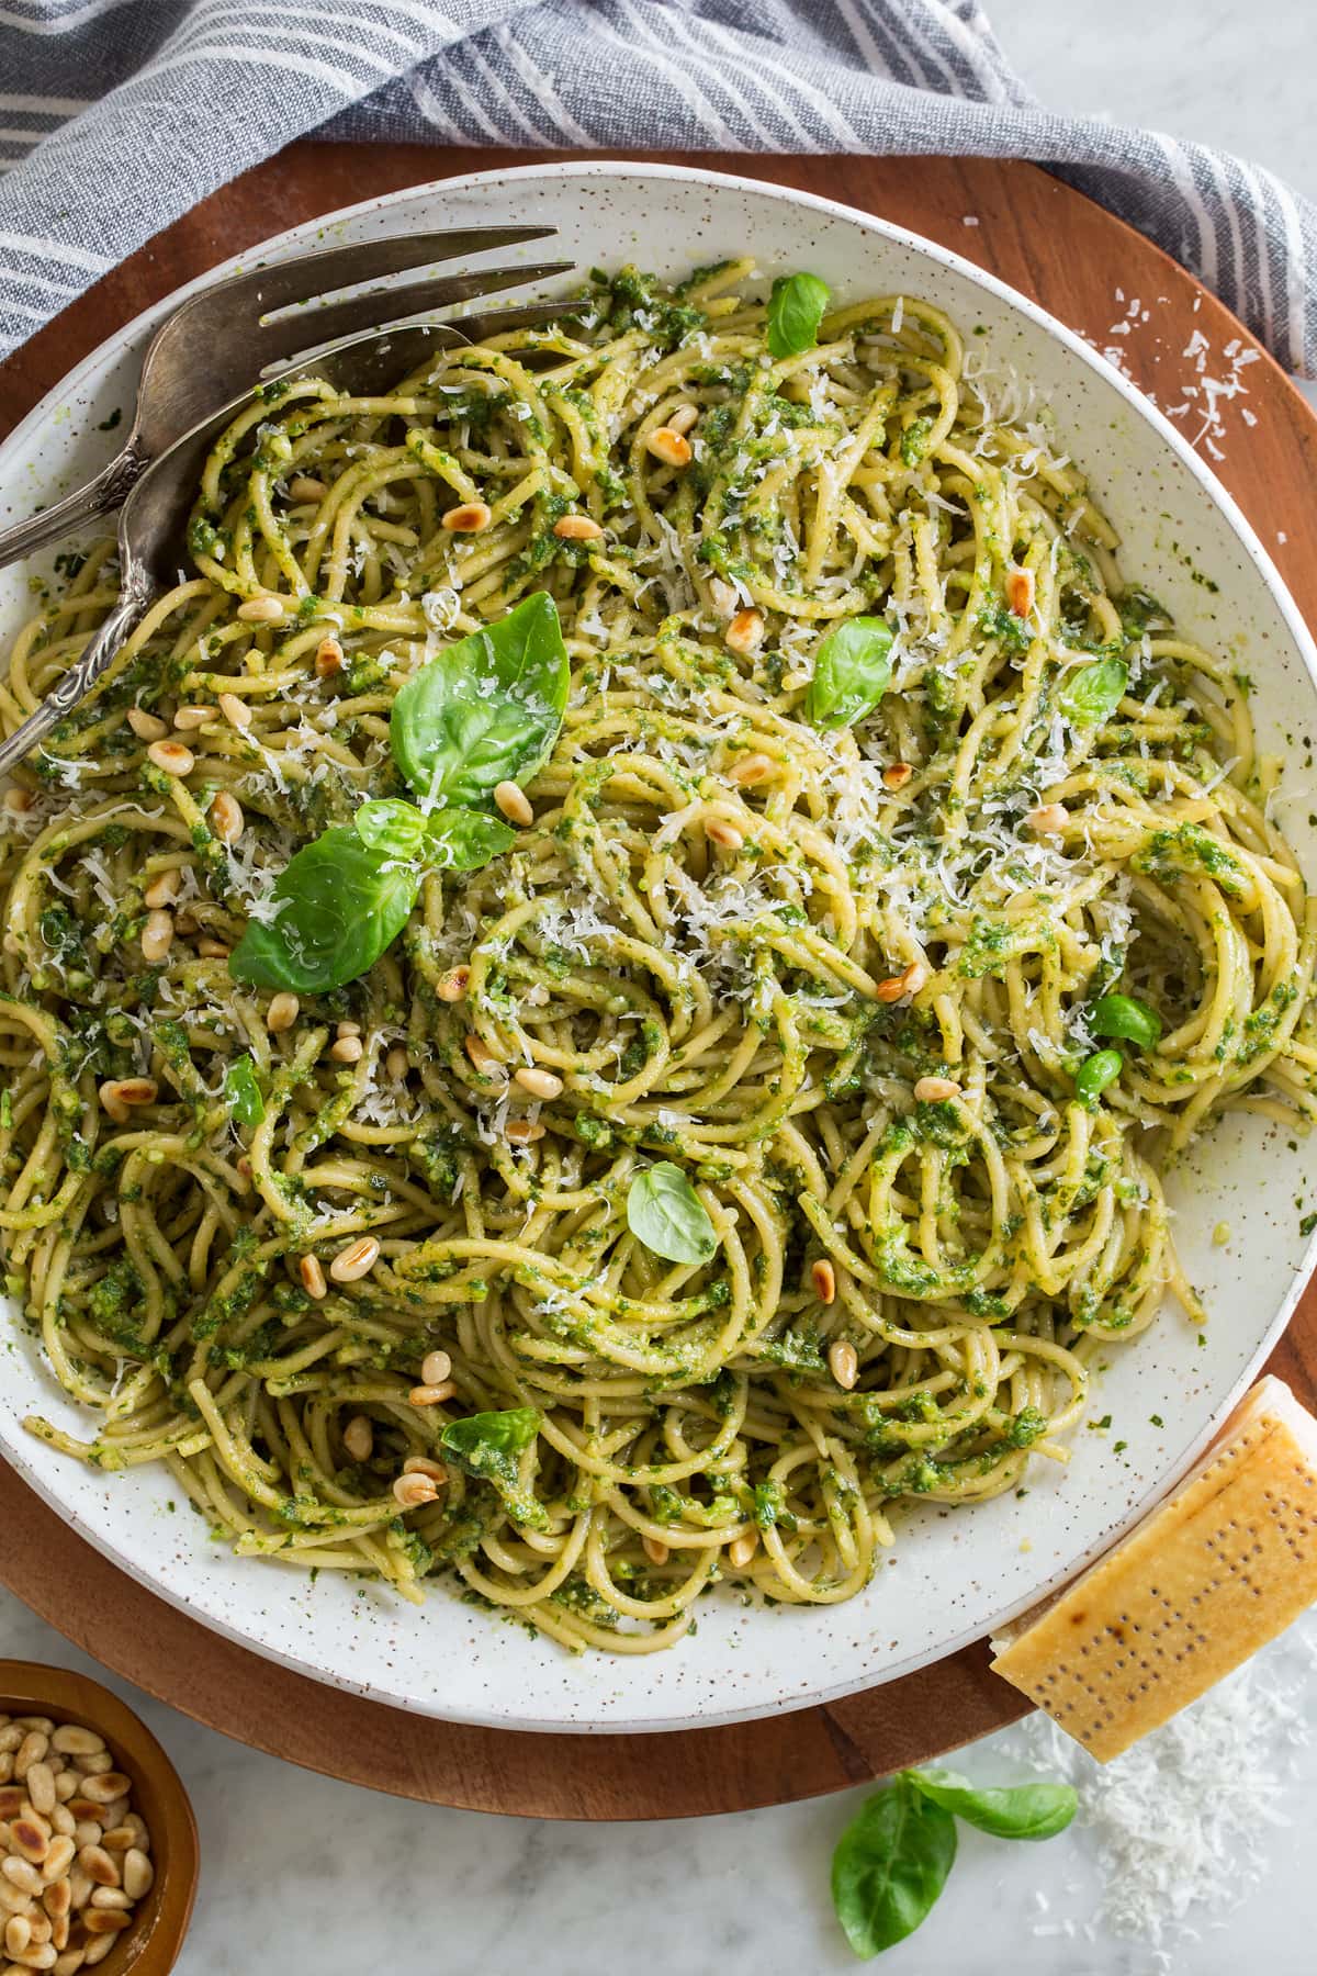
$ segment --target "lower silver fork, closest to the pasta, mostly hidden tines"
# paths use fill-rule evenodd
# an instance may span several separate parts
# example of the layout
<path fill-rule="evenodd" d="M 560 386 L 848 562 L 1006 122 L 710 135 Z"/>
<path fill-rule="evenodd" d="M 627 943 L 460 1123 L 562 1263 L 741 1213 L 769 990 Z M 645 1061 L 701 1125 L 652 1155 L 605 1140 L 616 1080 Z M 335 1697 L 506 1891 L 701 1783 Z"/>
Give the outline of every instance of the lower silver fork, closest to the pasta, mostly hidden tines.
<path fill-rule="evenodd" d="M 379 306 L 379 296 L 375 296 Z M 434 350 L 450 350 L 500 330 L 553 322 L 571 312 L 571 302 L 527 302 L 464 316 L 456 322 L 415 322 L 367 336 L 353 336 L 330 350 L 316 350 L 278 371 L 280 377 L 326 377 L 340 391 L 373 395 L 417 370 Z M 251 375 L 251 371 L 249 371 Z M 150 466 L 140 470 L 118 514 L 120 597 L 83 656 L 69 666 L 45 700 L 0 743 L 0 775 L 8 775 L 26 755 L 87 698 L 111 666 L 124 638 L 146 615 L 154 597 L 178 581 L 186 555 L 184 532 L 197 478 L 215 437 L 229 419 L 255 397 L 257 385 L 221 405 L 209 419 L 178 439 Z"/>

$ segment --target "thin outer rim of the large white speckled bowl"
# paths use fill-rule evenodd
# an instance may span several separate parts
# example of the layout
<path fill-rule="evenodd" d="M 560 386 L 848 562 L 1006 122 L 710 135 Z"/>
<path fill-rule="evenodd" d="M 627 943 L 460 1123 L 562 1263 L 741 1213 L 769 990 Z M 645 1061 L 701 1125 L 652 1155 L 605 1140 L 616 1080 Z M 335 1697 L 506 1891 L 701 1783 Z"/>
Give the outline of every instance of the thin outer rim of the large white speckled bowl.
<path fill-rule="evenodd" d="M 867 233 L 881 235 L 902 247 L 912 249 L 924 259 L 948 269 L 960 279 L 968 281 L 975 288 L 991 294 L 1007 306 L 1007 310 L 1023 316 L 1037 330 L 1041 330 L 1050 342 L 1060 344 L 1060 348 L 1074 362 L 1082 364 L 1096 377 L 1114 387 L 1120 399 L 1129 407 L 1129 411 L 1147 427 L 1153 429 L 1157 439 L 1175 460 L 1189 470 L 1191 478 L 1199 484 L 1201 492 L 1206 496 L 1210 506 L 1222 516 L 1228 526 L 1230 535 L 1240 543 L 1250 563 L 1254 565 L 1258 577 L 1266 585 L 1272 603 L 1276 605 L 1285 632 L 1291 640 L 1293 650 L 1303 662 L 1309 676 L 1309 686 L 1317 692 L 1317 642 L 1309 632 L 1305 618 L 1301 617 L 1289 589 L 1272 561 L 1268 549 L 1264 547 L 1258 532 L 1254 530 L 1248 516 L 1242 512 L 1230 490 L 1218 480 L 1212 468 L 1195 453 L 1185 435 L 1165 417 L 1165 413 L 1129 379 L 1120 371 L 1100 350 L 1088 344 L 1078 332 L 1070 330 L 1060 318 L 1046 310 L 1041 302 L 1023 290 L 1011 287 L 1011 283 L 1001 281 L 1001 277 L 991 275 L 977 263 L 956 253 L 952 247 L 944 247 L 940 241 L 928 235 L 916 233 L 900 223 L 881 217 L 877 213 L 865 211 L 863 207 L 849 206 L 841 200 L 829 200 L 821 194 L 804 192 L 794 186 L 780 186 L 774 180 L 750 178 L 735 172 L 715 172 L 705 166 L 685 166 L 685 164 L 663 164 L 652 160 L 626 160 L 626 158 L 549 158 L 535 160 L 523 166 L 511 168 L 488 168 L 480 172 L 460 172 L 444 178 L 423 180 L 419 184 L 401 186 L 393 192 L 375 194 L 367 200 L 357 200 L 351 206 L 334 207 L 328 213 L 320 213 L 312 219 L 298 221 L 292 227 L 284 227 L 272 233 L 269 239 L 257 241 L 253 247 L 229 255 L 227 259 L 215 263 L 203 275 L 194 281 L 172 288 L 168 296 L 150 304 L 146 310 L 138 312 L 130 322 L 122 324 L 101 344 L 97 344 L 87 356 L 55 385 L 41 395 L 38 405 L 14 427 L 14 431 L 0 441 L 0 458 L 10 454 L 26 443 L 41 423 L 49 419 L 57 401 L 71 395 L 85 377 L 103 362 L 103 352 L 107 346 L 122 356 L 134 348 L 144 348 L 148 334 L 154 326 L 164 320 L 168 312 L 178 308 L 182 300 L 194 292 L 221 281 L 225 275 L 251 269 L 267 259 L 280 259 L 284 247 L 300 247 L 316 231 L 351 221 L 357 217 L 367 217 L 371 213 L 387 213 L 393 209 L 405 209 L 409 202 L 425 200 L 434 192 L 468 192 L 468 190 L 490 190 L 505 192 L 515 188 L 519 182 L 541 180 L 581 180 L 581 178 L 626 178 L 626 180 L 650 180 L 656 184 L 697 184 L 709 186 L 713 192 L 738 192 L 756 200 L 770 200 L 784 206 L 796 206 L 813 209 L 831 219 L 847 221 Z M 1248 336 L 1250 346 L 1256 338 L 1242 328 Z M 610 1715 L 590 1715 L 588 1719 L 557 1721 L 557 1719 L 535 1719 L 525 1715 L 496 1713 L 488 1707 L 464 1705 L 460 1713 L 440 1711 L 430 1703 L 405 1701 L 397 1691 L 379 1688 L 375 1682 L 353 1680 L 348 1672 L 328 1672 L 310 1660 L 298 1658 L 294 1652 L 269 1642 L 257 1642 L 241 1626 L 231 1624 L 225 1616 L 215 1612 L 201 1612 L 192 1606 L 182 1593 L 162 1587 L 150 1573 L 136 1561 L 122 1557 L 113 1543 L 93 1533 L 81 1516 L 69 1512 L 69 1508 L 59 1500 L 57 1492 L 51 1492 L 45 1478 L 24 1462 L 22 1452 L 16 1452 L 10 1442 L 6 1442 L 4 1454 L 14 1462 L 24 1482 L 34 1488 L 53 1510 L 57 1510 L 83 1537 L 97 1541 L 101 1549 L 107 1549 L 115 1565 L 126 1571 L 132 1579 L 152 1591 L 156 1597 L 168 1599 L 180 1610 L 188 1610 L 194 1618 L 199 1618 L 211 1630 L 231 1638 L 235 1644 L 261 1654 L 267 1660 L 274 1660 L 292 1672 L 306 1674 L 312 1680 L 326 1682 L 330 1686 L 348 1689 L 349 1693 L 359 1693 L 367 1699 L 381 1701 L 387 1707 L 413 1707 L 417 1711 L 436 1715 L 444 1719 L 460 1719 L 476 1727 L 504 1729 L 504 1731 L 527 1731 L 527 1733 L 663 1733 L 669 1729 L 689 1729 L 689 1727 L 715 1727 L 721 1723 L 746 1721 L 756 1717 L 766 1717 L 782 1709 L 800 1709 L 825 1705 L 829 1701 L 843 1699 L 845 1695 L 859 1693 L 867 1688 L 883 1686 L 887 1680 L 894 1680 L 904 1674 L 916 1672 L 920 1666 L 948 1658 L 968 1646 L 973 1646 L 999 1626 L 1017 1618 L 1019 1614 L 1041 1605 L 1060 1587 L 1070 1583 L 1082 1571 L 1086 1571 L 1100 1555 L 1110 1551 L 1122 1541 L 1171 1490 L 1183 1480 L 1193 1462 L 1201 1456 L 1202 1448 L 1210 1442 L 1212 1435 L 1218 1431 L 1220 1423 L 1238 1403 L 1238 1399 L 1248 1389 L 1258 1367 L 1264 1363 L 1268 1352 L 1274 1348 L 1278 1338 L 1283 1334 L 1293 1310 L 1303 1294 L 1307 1280 L 1317 1265 L 1317 1231 L 1309 1237 L 1301 1261 L 1295 1267 L 1295 1275 L 1283 1294 L 1276 1304 L 1266 1328 L 1254 1334 L 1246 1358 L 1240 1361 L 1240 1369 L 1234 1375 L 1228 1391 L 1210 1409 L 1210 1417 L 1204 1417 L 1201 1427 L 1181 1442 L 1179 1452 L 1159 1464 L 1157 1474 L 1149 1480 L 1147 1488 L 1141 1490 L 1137 1500 L 1129 1510 L 1118 1518 L 1116 1523 L 1104 1529 L 1100 1537 L 1084 1543 L 1078 1555 L 1064 1565 L 1041 1579 L 1027 1595 L 1009 1599 L 999 1610 L 993 1612 L 989 1622 L 962 1622 L 958 1630 L 942 1642 L 934 1652 L 912 1652 L 898 1666 L 885 1670 L 877 1680 L 869 1672 L 857 1672 L 843 1680 L 827 1680 L 821 1686 L 806 1693 L 778 1695 L 772 1699 L 758 1699 L 744 1705 L 719 1707 L 717 1711 L 703 1711 L 697 1715 L 638 1715 L 638 1717 L 610 1717 Z"/>

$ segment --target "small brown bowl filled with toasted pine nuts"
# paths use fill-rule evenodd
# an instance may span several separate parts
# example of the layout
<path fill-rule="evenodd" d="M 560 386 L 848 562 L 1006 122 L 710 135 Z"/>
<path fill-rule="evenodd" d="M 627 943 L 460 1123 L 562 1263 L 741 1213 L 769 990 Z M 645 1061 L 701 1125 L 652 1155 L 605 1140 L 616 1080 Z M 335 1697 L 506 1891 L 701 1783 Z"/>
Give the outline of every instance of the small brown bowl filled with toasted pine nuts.
<path fill-rule="evenodd" d="M 197 1826 L 132 1709 L 69 1668 L 0 1660 L 0 1966 L 168 1976 L 192 1921 Z"/>

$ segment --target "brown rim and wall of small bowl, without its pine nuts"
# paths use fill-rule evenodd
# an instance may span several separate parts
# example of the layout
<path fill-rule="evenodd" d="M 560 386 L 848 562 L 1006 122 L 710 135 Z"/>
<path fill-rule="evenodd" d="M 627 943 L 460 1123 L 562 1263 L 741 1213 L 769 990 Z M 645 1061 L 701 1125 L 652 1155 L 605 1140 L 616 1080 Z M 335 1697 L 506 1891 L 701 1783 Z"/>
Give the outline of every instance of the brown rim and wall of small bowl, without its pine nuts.
<path fill-rule="evenodd" d="M 199 1873 L 197 1822 L 178 1770 L 118 1695 L 69 1668 L 0 1660 L 0 1713 L 85 1723 L 105 1737 L 115 1767 L 132 1778 L 132 1810 L 150 1832 L 156 1877 L 138 1903 L 138 1919 L 99 1970 L 103 1976 L 170 1976 L 192 1921 Z"/>

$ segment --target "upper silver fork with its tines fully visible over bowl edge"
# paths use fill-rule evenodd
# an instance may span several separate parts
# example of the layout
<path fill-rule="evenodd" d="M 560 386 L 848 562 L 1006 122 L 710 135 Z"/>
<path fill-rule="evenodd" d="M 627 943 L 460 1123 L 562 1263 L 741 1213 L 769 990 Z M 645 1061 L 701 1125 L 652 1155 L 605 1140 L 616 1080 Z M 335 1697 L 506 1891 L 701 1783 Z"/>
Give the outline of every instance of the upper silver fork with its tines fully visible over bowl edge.
<path fill-rule="evenodd" d="M 355 247 L 326 247 L 274 261 L 201 288 L 150 340 L 142 362 L 136 411 L 128 435 L 87 486 L 51 502 L 30 522 L 0 532 L 0 569 L 69 535 L 83 522 L 118 508 L 152 460 L 209 413 L 239 397 L 253 377 L 294 360 L 308 344 L 330 344 L 419 316 L 452 302 L 470 302 L 527 281 L 565 275 L 571 261 L 434 275 L 381 288 L 389 275 L 549 239 L 555 227 L 450 227 L 442 233 L 389 233 Z M 338 288 L 375 283 L 365 294 L 334 300 Z M 330 300 L 320 300 L 330 296 Z M 387 308 L 383 306 L 387 304 Z M 401 375 L 401 371 L 399 371 Z"/>

